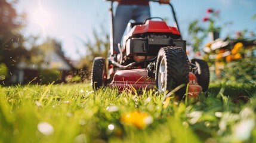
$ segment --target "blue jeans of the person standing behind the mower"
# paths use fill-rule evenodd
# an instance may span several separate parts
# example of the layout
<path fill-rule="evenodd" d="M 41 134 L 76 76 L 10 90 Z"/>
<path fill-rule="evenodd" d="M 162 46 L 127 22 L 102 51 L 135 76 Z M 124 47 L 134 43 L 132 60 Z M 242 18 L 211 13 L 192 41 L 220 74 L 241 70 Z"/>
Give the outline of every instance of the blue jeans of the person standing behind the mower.
<path fill-rule="evenodd" d="M 114 17 L 114 52 L 119 53 L 118 43 L 121 43 L 122 36 L 129 20 L 142 23 L 146 18 L 150 18 L 149 5 L 118 5 Z"/>

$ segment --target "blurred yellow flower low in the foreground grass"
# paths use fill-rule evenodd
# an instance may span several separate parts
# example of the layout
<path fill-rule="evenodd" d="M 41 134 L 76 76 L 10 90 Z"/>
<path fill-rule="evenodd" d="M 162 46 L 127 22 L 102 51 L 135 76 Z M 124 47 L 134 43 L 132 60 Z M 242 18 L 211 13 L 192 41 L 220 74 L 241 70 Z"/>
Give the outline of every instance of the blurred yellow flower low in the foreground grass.
<path fill-rule="evenodd" d="M 146 128 L 147 125 L 153 122 L 153 118 L 149 114 L 140 111 L 124 113 L 120 120 L 124 124 L 133 125 L 139 129 Z"/>

